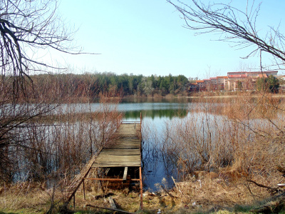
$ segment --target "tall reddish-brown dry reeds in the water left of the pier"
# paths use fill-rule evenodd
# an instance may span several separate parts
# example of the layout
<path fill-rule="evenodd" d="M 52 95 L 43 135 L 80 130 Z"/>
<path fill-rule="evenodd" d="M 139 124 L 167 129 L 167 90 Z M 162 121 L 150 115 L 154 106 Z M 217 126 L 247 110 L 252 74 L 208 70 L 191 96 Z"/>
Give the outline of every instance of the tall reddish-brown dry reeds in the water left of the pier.
<path fill-rule="evenodd" d="M 19 103 L 6 98 L 4 93 L 13 96 L 9 87 L 1 91 L 1 181 L 72 177 L 118 127 L 122 118 L 118 101 L 102 96 L 94 104 L 88 91 L 92 89 L 83 86 L 86 89 L 78 96 L 88 102 L 74 103 L 68 97 L 73 91 L 55 81 L 34 83 L 31 95 Z"/>

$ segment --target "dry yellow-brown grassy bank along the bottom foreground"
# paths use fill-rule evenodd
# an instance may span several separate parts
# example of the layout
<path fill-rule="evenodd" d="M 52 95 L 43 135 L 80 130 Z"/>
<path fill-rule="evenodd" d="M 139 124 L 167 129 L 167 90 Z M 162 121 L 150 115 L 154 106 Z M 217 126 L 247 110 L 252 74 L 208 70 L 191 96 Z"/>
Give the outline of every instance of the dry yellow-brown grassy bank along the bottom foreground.
<path fill-rule="evenodd" d="M 138 190 L 108 189 L 104 195 L 96 183 L 88 183 L 86 200 L 83 199 L 83 189 L 79 189 L 76 193 L 76 208 L 73 209 L 71 201 L 66 212 L 113 213 L 88 206 L 110 208 L 109 197 L 113 198 L 118 209 L 133 213 L 249 213 L 249 210 L 257 211 L 265 204 L 271 205 L 272 212 L 276 209 L 280 213 L 284 208 L 285 200 L 271 198 L 271 193 L 265 188 L 247 183 L 243 178 L 231 179 L 222 172 L 199 172 L 166 191 L 163 190 L 166 184 L 162 180 L 159 191 L 143 193 L 143 210 L 139 208 Z M 62 190 L 46 189 L 45 185 L 39 183 L 1 186 L 0 193 L 0 213 L 58 213 L 64 196 Z"/>

